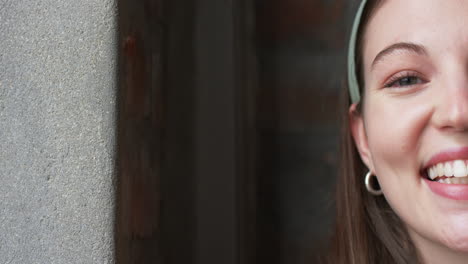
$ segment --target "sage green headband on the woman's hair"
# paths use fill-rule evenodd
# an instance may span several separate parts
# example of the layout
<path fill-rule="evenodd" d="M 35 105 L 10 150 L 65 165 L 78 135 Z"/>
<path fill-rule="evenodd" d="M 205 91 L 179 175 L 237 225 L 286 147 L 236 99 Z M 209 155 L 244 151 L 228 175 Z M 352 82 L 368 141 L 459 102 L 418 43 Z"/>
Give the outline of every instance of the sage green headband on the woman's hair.
<path fill-rule="evenodd" d="M 363 0 L 356 13 L 348 47 L 348 86 L 352 103 L 358 103 L 361 100 L 361 95 L 359 94 L 359 84 L 356 76 L 356 41 L 359 26 L 361 24 L 362 12 L 364 11 L 366 3 L 367 0 Z"/>

